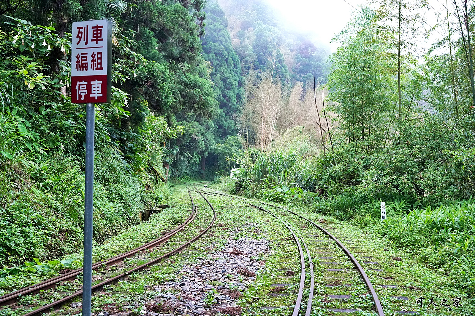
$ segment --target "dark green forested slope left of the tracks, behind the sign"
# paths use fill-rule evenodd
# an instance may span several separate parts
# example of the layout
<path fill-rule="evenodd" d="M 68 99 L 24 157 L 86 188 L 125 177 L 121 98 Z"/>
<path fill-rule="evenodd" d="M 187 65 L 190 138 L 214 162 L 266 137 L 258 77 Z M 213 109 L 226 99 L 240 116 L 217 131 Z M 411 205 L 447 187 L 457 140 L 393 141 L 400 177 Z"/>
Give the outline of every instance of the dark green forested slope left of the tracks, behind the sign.
<path fill-rule="evenodd" d="M 212 1 L 11 0 L 0 12 L 2 267 L 82 244 L 85 108 L 70 98 L 72 22 L 113 23 L 112 102 L 96 104 L 97 243 L 165 202 L 168 179 L 228 173 L 247 146 L 239 132 L 246 86 L 269 71 L 283 90 L 309 80 L 284 59 L 289 46 L 276 27 L 253 21 L 257 39 L 245 52 Z M 241 33 L 254 34 L 249 27 Z M 322 56 L 307 69 L 318 81 Z"/>

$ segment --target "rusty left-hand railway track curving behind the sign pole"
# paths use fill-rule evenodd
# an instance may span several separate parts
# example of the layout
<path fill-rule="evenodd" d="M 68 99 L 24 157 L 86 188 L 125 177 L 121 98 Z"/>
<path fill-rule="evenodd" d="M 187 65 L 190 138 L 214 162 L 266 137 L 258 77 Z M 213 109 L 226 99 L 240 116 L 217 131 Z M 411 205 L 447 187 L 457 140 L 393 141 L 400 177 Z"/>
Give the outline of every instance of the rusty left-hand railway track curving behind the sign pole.
<path fill-rule="evenodd" d="M 188 189 L 188 195 L 190 197 L 190 201 L 191 201 L 191 214 L 190 216 L 187 218 L 187 220 L 182 223 L 180 226 L 178 226 L 177 228 L 175 228 L 174 230 L 172 230 L 171 232 L 169 232 L 167 235 L 161 237 L 161 238 L 158 238 L 158 239 L 155 239 L 147 244 L 144 244 L 140 247 L 137 247 L 131 251 L 128 251 L 126 253 L 122 253 L 120 255 L 117 255 L 117 256 L 114 256 L 108 260 L 105 260 L 105 261 L 102 261 L 102 262 L 97 262 L 93 265 L 93 269 L 97 269 L 98 267 L 100 266 L 104 266 L 104 265 L 112 265 L 114 263 L 117 263 L 117 262 L 121 262 L 123 261 L 125 258 L 130 258 L 132 257 L 133 255 L 139 253 L 139 252 L 142 252 L 142 251 L 145 251 L 146 249 L 150 250 L 156 246 L 158 246 L 159 244 L 163 244 L 164 242 L 166 242 L 167 240 L 169 240 L 171 238 L 171 236 L 177 234 L 178 232 L 180 232 L 181 230 L 183 230 L 186 226 L 188 226 L 188 224 L 190 224 L 196 217 L 197 217 L 197 214 L 198 214 L 198 209 L 197 209 L 197 206 L 195 205 L 194 203 L 194 200 L 193 200 L 193 197 L 191 196 L 191 192 L 190 192 L 190 188 L 189 186 L 187 186 L 187 189 Z M 211 210 L 213 211 L 213 219 L 211 220 L 211 223 L 209 224 L 209 226 L 207 226 L 204 230 L 202 230 L 201 232 L 199 232 L 198 235 L 196 235 L 195 237 L 193 237 L 192 239 L 190 239 L 189 241 L 187 241 L 186 243 L 184 244 L 181 244 L 179 247 L 171 250 L 170 252 L 168 253 L 165 253 L 163 255 L 161 255 L 160 257 L 158 258 L 155 258 L 153 259 L 152 261 L 150 262 L 147 262 L 147 263 L 144 263 L 142 265 L 139 265 L 139 266 L 136 266 L 134 267 L 133 269 L 131 270 L 128 270 L 128 271 L 125 271 L 123 273 L 120 273 L 119 275 L 116 275 L 112 278 L 109 278 L 107 280 L 104 280 L 98 284 L 95 284 L 93 285 L 92 287 L 92 290 L 93 291 L 97 291 L 97 290 L 100 290 L 102 289 L 105 285 L 108 285 L 108 284 L 111 284 L 111 283 L 114 283 L 114 282 L 117 282 L 125 277 L 127 277 L 129 274 L 132 274 L 134 272 L 138 272 L 138 271 L 143 271 L 145 269 L 148 269 L 150 268 L 152 265 L 158 263 L 158 262 L 161 262 L 162 260 L 170 257 L 172 254 L 174 253 L 178 253 L 180 251 L 182 251 L 183 249 L 185 249 L 189 244 L 193 243 L 195 240 L 197 240 L 200 236 L 202 236 L 203 234 L 205 234 L 209 228 L 214 224 L 214 221 L 216 219 L 216 210 L 213 208 L 213 206 L 211 205 L 211 203 L 209 203 L 209 201 L 203 196 L 203 194 L 201 194 L 201 192 L 199 192 L 199 194 L 203 197 L 203 199 L 205 199 Z M 55 278 L 52 278 L 50 280 L 46 280 L 44 282 L 41 282 L 41 283 L 38 283 L 38 284 L 35 284 L 35 285 L 32 285 L 30 287 L 27 287 L 27 288 L 24 288 L 24 289 L 19 289 L 17 291 L 14 291 L 14 292 L 11 292 L 9 294 L 6 294 L 2 297 L 0 297 L 0 306 L 7 306 L 7 305 L 13 305 L 15 304 L 15 302 L 17 302 L 17 300 L 20 298 L 20 297 L 24 297 L 26 295 L 31 295 L 31 294 L 35 294 L 35 293 L 38 293 L 39 291 L 41 290 L 45 290 L 45 289 L 51 289 L 53 287 L 55 287 L 57 284 L 61 283 L 61 282 L 64 282 L 64 281 L 67 281 L 67 280 L 72 280 L 72 279 L 75 279 L 76 276 L 78 276 L 80 273 L 82 272 L 82 269 L 77 269 L 77 270 L 74 270 L 74 271 L 70 271 L 68 273 L 65 273 L 63 275 L 60 275 L 58 277 L 55 277 Z M 39 307 L 33 311 L 30 311 L 26 314 L 24 314 L 24 316 L 36 316 L 36 315 L 40 315 L 42 313 L 47 313 L 49 312 L 50 310 L 52 309 L 56 309 L 70 301 L 72 301 L 73 299 L 77 298 L 77 297 L 80 297 L 82 295 L 82 290 L 78 290 L 74 293 L 72 293 L 71 295 L 65 297 L 65 298 L 61 298 L 59 300 L 56 300 L 46 306 L 42 306 L 42 307 Z"/>

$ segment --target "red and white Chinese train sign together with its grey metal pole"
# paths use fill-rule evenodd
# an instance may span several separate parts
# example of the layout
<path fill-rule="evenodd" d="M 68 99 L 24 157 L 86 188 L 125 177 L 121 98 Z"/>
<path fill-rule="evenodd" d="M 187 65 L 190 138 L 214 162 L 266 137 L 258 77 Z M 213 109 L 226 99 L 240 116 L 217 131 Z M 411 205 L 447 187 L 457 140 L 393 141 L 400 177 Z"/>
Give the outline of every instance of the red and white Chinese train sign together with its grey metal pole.
<path fill-rule="evenodd" d="M 71 102 L 86 103 L 83 316 L 91 315 L 95 103 L 111 101 L 112 25 L 107 20 L 73 23 Z"/>

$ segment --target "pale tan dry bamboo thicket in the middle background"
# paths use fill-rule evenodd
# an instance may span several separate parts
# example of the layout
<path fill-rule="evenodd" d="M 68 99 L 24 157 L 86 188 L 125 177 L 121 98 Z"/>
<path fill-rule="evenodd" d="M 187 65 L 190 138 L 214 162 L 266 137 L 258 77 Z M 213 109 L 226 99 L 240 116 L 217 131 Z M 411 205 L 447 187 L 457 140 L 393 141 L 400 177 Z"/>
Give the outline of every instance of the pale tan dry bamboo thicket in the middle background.
<path fill-rule="evenodd" d="M 276 142 L 283 144 L 291 139 L 286 133 L 299 127 L 314 144 L 325 145 L 329 150 L 329 135 L 334 127 L 334 115 L 324 106 L 327 91 L 322 87 L 305 87 L 297 82 L 287 90 L 271 75 L 257 81 L 255 74 L 247 78 L 246 102 L 237 119 L 239 134 L 250 146 L 269 150 Z"/>

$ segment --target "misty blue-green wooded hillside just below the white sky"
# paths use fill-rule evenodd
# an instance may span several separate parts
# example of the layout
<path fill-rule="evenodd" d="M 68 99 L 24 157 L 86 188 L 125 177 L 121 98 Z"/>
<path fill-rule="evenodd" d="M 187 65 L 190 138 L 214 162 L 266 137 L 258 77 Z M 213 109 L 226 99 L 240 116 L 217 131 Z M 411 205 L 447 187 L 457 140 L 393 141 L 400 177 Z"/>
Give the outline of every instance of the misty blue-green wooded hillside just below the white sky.
<path fill-rule="evenodd" d="M 282 17 L 259 0 L 219 0 L 243 72 L 272 71 L 283 84 L 324 82 L 328 52 L 282 26 Z"/>

